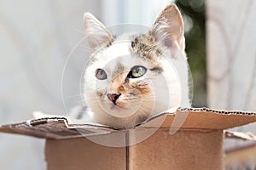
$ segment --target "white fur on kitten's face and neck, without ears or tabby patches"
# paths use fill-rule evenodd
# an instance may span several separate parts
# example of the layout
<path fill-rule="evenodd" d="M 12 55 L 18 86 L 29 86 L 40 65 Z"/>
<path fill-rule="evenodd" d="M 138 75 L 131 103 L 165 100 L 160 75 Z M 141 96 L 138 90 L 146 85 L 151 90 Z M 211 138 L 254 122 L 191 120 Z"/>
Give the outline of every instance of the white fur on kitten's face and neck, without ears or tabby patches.
<path fill-rule="evenodd" d="M 112 71 L 117 61 L 125 65 L 126 72 L 124 75 L 127 75 L 134 65 L 145 65 L 146 68 L 150 68 L 150 65 L 143 59 L 131 56 L 130 48 L 131 42 L 113 42 L 112 46 L 93 56 L 96 61 L 85 71 L 84 102 L 90 108 L 88 113 L 94 121 L 113 127 L 134 127 L 138 123 L 137 117 L 142 114 L 150 116 L 181 105 L 189 106 L 188 69 L 184 56 L 180 57 L 182 58 L 181 60 L 170 59 L 168 56 L 161 57 L 160 63 L 163 65 L 164 70 L 162 75 L 154 77 L 150 75 L 150 71 L 147 72 L 148 75 L 145 75 L 145 77 L 153 77 L 150 82 L 154 92 L 151 95 L 154 97 L 144 99 L 144 102 L 138 101 L 136 104 L 130 105 L 128 107 L 130 109 L 115 107 L 110 109 L 113 107 L 113 103 L 106 95 L 104 99 L 97 100 L 96 91 L 105 90 L 108 93 L 109 82 L 113 78 Z M 182 54 L 180 53 L 180 55 Z M 177 65 L 180 67 L 178 70 L 175 68 Z M 107 72 L 107 80 L 96 79 L 95 71 L 98 68 L 103 68 Z"/>

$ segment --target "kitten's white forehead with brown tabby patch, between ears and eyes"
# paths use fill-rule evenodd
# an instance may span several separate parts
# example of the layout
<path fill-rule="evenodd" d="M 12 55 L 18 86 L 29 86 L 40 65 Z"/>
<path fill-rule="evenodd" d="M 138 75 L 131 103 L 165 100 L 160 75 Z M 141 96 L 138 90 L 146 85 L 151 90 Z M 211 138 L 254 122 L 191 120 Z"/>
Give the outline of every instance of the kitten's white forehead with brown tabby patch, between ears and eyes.
<path fill-rule="evenodd" d="M 148 36 L 123 34 L 115 37 L 111 45 L 99 50 L 92 58 L 98 68 L 108 68 L 113 75 L 129 71 L 134 65 L 160 67 L 155 46 L 154 39 Z"/>

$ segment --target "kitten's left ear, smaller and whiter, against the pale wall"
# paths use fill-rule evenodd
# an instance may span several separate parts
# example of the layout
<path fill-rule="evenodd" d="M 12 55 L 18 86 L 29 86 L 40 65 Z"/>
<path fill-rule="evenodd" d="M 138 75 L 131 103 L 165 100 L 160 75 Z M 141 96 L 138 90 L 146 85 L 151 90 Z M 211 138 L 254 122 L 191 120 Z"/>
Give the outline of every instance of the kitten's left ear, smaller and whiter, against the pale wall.
<path fill-rule="evenodd" d="M 84 13 L 84 31 L 92 49 L 101 48 L 113 41 L 113 35 L 93 14 Z"/>

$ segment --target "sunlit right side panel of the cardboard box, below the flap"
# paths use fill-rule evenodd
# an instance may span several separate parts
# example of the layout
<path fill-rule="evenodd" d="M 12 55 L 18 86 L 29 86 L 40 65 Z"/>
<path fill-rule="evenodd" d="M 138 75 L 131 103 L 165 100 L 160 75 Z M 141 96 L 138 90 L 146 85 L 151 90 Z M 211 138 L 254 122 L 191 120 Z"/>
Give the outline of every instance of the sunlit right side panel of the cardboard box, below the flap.
<path fill-rule="evenodd" d="M 132 134 L 131 134 L 132 135 Z M 223 169 L 222 130 L 180 130 L 174 135 L 160 128 L 129 148 L 129 169 Z"/>

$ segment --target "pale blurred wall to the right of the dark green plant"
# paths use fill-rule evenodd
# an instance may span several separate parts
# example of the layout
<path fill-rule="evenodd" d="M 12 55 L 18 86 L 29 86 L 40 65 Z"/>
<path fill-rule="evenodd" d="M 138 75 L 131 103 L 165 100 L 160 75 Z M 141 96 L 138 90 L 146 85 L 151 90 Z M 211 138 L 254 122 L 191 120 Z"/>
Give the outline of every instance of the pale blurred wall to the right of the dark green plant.
<path fill-rule="evenodd" d="M 256 112 L 256 2 L 207 1 L 208 103 L 212 109 Z M 253 132 L 255 123 L 233 131 Z M 226 147 L 247 144 L 227 141 Z"/>

